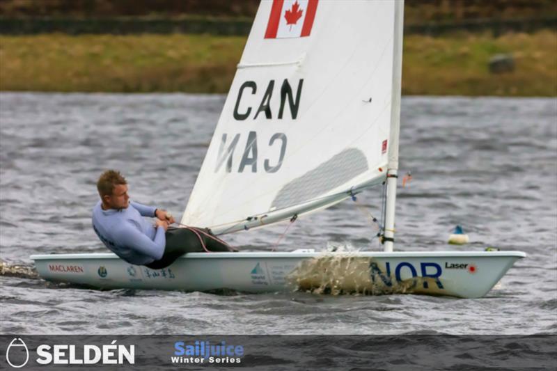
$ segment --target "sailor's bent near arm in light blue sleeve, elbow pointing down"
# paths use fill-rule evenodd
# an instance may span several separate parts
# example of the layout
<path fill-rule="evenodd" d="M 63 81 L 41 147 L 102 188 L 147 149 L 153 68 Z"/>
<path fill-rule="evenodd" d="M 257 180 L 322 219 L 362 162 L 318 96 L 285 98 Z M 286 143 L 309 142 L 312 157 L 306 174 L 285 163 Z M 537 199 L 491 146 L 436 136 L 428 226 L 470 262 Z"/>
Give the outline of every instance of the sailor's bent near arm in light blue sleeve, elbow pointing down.
<path fill-rule="evenodd" d="M 118 240 L 118 244 L 159 260 L 164 254 L 164 246 L 166 244 L 164 232 L 164 227 L 158 226 L 155 240 L 151 240 L 131 224 L 123 223 L 117 230 L 114 230 L 114 235 Z"/>

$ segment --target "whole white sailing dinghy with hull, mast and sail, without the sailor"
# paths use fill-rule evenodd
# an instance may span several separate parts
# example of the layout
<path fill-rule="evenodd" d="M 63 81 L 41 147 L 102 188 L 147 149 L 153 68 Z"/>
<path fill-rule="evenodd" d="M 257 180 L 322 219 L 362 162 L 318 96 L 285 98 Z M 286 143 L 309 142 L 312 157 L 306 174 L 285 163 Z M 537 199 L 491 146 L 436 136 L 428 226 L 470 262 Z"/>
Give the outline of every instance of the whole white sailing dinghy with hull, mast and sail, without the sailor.
<path fill-rule="evenodd" d="M 519 251 L 393 251 L 403 1 L 262 1 L 182 217 L 217 235 L 289 221 L 385 184 L 384 251 L 32 255 L 49 281 L 107 289 L 414 292 L 482 297 Z"/>

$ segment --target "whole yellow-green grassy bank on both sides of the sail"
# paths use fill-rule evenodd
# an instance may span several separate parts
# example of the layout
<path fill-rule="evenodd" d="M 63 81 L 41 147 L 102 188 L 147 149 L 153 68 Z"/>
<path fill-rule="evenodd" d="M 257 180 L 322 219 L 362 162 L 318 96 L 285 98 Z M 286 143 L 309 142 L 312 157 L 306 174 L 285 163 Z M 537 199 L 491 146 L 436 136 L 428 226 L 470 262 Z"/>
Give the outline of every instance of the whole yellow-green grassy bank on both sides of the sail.
<path fill-rule="evenodd" d="M 244 37 L 0 36 L 0 90 L 225 93 Z M 491 74 L 489 58 L 515 57 Z M 557 33 L 405 38 L 403 94 L 557 95 Z"/>

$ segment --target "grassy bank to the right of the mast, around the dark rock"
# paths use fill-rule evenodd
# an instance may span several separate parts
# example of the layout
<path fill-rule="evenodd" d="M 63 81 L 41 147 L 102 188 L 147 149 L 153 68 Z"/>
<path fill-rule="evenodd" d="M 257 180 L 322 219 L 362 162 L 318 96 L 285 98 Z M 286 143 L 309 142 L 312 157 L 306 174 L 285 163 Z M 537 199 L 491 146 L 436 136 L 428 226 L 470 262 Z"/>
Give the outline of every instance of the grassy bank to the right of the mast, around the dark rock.
<path fill-rule="evenodd" d="M 515 70 L 489 72 L 489 58 L 512 54 Z M 460 34 L 405 38 L 402 93 L 430 95 L 557 95 L 557 33 Z"/>

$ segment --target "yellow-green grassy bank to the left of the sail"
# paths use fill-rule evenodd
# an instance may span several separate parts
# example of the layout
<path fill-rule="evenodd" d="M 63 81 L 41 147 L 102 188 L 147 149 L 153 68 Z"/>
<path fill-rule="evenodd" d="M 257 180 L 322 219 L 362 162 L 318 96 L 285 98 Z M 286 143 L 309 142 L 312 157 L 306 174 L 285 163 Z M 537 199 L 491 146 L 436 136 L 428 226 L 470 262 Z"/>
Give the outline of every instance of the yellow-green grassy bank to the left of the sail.
<path fill-rule="evenodd" d="M 221 93 L 245 38 L 205 35 L 0 37 L 0 90 Z"/>

